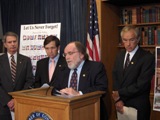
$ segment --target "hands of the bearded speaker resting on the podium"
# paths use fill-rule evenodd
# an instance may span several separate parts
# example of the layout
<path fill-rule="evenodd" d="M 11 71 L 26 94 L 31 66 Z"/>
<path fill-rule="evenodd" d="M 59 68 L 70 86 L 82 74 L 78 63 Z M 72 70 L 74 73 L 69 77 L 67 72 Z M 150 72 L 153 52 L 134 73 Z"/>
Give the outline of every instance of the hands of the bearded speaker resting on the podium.
<path fill-rule="evenodd" d="M 80 95 L 78 91 L 74 90 L 73 88 L 65 88 L 60 90 L 61 94 L 67 94 L 67 95 Z"/>

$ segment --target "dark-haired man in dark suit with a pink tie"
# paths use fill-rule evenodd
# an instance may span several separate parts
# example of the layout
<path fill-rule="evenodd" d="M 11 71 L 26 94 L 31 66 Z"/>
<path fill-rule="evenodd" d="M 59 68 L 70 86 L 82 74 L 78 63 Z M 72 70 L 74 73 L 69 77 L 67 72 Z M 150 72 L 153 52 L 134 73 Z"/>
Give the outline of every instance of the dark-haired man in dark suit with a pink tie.
<path fill-rule="evenodd" d="M 37 62 L 37 69 L 35 74 L 35 87 L 41 87 L 43 84 L 53 85 L 56 74 L 59 69 L 62 69 L 66 65 L 65 58 L 60 55 L 60 40 L 53 35 L 48 36 L 44 40 L 44 48 L 47 53 L 47 58 L 41 59 Z M 50 67 L 54 60 L 54 70 L 51 71 Z"/>

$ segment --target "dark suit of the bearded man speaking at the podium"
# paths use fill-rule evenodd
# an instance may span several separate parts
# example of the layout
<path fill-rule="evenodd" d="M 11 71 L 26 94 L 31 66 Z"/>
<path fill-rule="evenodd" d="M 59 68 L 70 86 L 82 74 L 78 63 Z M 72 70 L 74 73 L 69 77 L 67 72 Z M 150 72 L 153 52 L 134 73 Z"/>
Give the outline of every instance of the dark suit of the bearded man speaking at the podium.
<path fill-rule="evenodd" d="M 69 74 L 70 69 L 68 67 L 61 69 L 56 77 L 55 88 L 61 90 L 68 87 Z M 107 81 L 104 65 L 100 62 L 86 60 L 80 73 L 78 91 L 81 91 L 83 94 L 94 91 L 106 91 Z M 104 101 L 101 100 L 101 120 L 107 119 Z"/>

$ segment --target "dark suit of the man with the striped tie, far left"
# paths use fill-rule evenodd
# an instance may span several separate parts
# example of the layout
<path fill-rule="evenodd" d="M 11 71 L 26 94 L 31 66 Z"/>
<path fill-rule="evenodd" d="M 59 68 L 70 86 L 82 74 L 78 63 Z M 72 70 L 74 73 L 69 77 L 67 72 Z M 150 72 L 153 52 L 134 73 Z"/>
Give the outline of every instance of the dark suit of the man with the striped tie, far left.
<path fill-rule="evenodd" d="M 8 92 L 30 88 L 34 83 L 30 58 L 17 54 L 15 83 L 11 78 L 8 55 L 0 56 L 0 119 L 10 120 L 7 103 L 12 99 Z"/>

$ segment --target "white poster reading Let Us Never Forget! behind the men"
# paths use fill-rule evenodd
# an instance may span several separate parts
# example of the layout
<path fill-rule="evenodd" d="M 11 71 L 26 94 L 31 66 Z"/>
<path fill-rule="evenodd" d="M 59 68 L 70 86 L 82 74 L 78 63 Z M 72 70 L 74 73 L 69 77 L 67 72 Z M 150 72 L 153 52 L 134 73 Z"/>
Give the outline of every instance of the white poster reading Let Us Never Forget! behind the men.
<path fill-rule="evenodd" d="M 60 23 L 21 25 L 19 53 L 31 58 L 35 75 L 37 61 L 47 57 L 43 47 L 44 39 L 49 35 L 60 39 Z"/>

